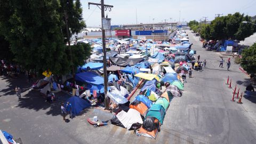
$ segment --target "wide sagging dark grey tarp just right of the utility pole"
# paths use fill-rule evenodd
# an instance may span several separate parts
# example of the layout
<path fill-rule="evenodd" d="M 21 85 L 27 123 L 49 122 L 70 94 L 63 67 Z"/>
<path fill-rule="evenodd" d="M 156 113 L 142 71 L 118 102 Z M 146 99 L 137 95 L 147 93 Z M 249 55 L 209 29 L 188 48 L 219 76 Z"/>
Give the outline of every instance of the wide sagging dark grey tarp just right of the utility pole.
<path fill-rule="evenodd" d="M 112 63 L 115 63 L 117 66 L 125 67 L 125 66 L 134 66 L 137 63 L 141 62 L 142 59 L 125 59 L 125 58 L 115 58 L 115 57 L 109 57 Z"/>

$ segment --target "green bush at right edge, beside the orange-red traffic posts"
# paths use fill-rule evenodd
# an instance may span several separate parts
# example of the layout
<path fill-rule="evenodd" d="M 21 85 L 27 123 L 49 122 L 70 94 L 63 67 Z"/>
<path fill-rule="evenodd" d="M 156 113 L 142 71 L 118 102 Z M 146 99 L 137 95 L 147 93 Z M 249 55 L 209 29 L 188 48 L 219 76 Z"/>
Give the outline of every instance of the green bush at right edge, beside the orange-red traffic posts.
<path fill-rule="evenodd" d="M 241 66 L 248 73 L 256 73 L 256 43 L 242 51 Z"/>

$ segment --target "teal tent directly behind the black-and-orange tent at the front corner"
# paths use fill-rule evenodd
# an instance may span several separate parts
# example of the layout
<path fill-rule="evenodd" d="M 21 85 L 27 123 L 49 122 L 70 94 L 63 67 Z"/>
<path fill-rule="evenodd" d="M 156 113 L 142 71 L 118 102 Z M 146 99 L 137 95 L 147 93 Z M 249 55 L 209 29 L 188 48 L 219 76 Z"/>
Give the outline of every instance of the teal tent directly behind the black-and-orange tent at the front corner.
<path fill-rule="evenodd" d="M 162 105 L 159 104 L 153 104 L 146 115 L 145 118 L 148 116 L 155 117 L 158 119 L 158 121 L 163 124 L 164 123 L 164 116 L 165 116 L 165 109 Z"/>

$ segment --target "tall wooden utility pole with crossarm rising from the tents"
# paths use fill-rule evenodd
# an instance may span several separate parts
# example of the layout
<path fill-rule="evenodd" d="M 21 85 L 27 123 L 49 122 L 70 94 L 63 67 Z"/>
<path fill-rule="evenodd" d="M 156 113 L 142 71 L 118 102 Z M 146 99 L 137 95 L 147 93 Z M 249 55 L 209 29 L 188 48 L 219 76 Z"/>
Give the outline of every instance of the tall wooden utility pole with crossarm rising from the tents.
<path fill-rule="evenodd" d="M 102 47 L 103 47 L 103 76 L 104 76 L 104 94 L 105 94 L 105 109 L 109 108 L 109 99 L 107 97 L 108 92 L 108 76 L 107 76 L 107 57 L 106 57 L 106 39 L 105 39 L 105 29 L 103 28 L 103 18 L 105 18 L 105 11 L 111 11 L 113 5 L 105 5 L 104 0 L 101 0 L 101 3 L 88 3 L 89 9 L 91 5 L 97 5 L 101 9 L 101 31 L 102 31 Z"/>

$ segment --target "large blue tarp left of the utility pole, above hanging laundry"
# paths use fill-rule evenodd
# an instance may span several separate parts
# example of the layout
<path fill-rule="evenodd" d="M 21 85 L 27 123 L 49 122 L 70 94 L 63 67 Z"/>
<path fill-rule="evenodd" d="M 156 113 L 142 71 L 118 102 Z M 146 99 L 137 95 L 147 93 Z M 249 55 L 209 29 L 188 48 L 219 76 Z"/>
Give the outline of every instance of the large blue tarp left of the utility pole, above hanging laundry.
<path fill-rule="evenodd" d="M 99 76 L 91 71 L 86 71 L 84 73 L 76 74 L 75 79 L 80 82 L 86 82 L 91 84 L 103 84 L 104 79 L 102 76 Z"/>

